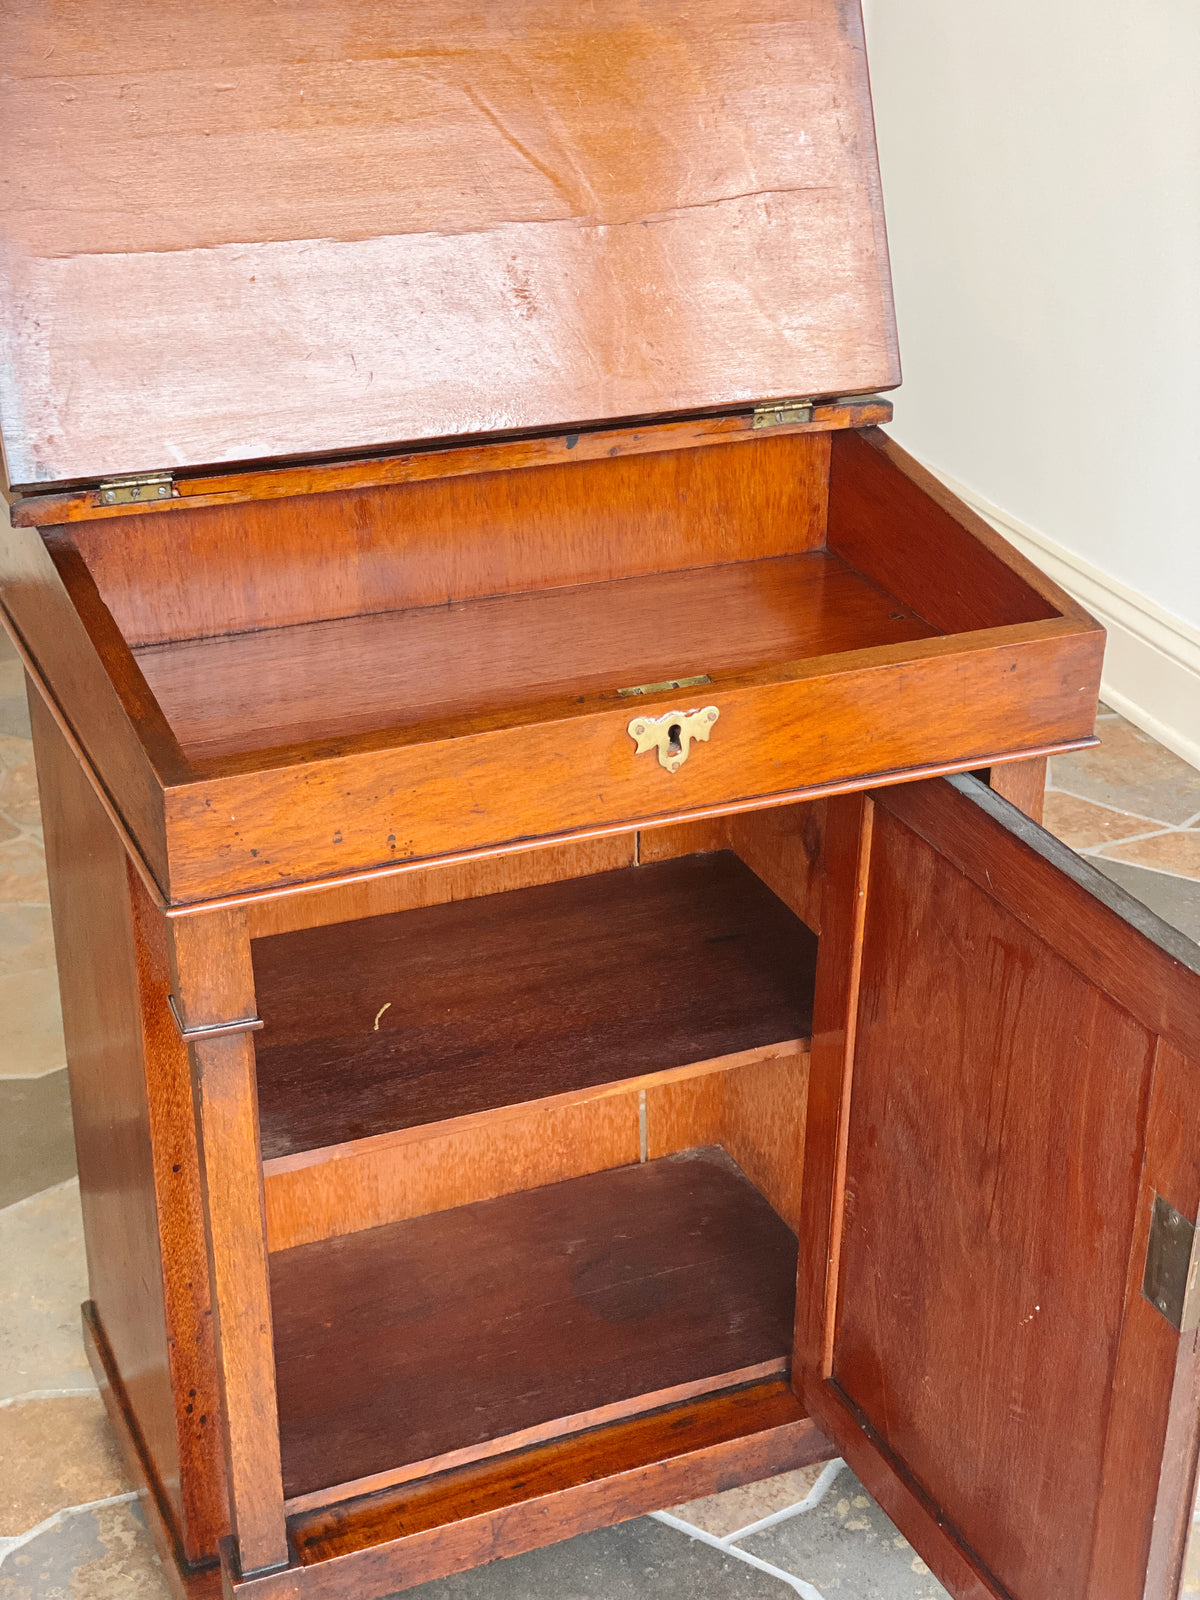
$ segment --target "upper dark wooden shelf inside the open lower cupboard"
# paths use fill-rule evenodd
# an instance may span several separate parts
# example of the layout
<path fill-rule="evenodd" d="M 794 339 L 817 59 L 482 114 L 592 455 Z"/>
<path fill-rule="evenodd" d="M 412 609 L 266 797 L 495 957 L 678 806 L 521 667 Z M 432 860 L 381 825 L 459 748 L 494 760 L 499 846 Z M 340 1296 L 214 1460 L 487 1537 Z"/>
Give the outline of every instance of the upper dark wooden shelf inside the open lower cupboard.
<path fill-rule="evenodd" d="M 730 851 L 253 952 L 266 1160 L 811 1032 L 816 936 Z"/>

